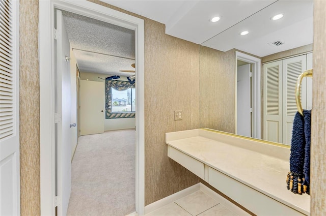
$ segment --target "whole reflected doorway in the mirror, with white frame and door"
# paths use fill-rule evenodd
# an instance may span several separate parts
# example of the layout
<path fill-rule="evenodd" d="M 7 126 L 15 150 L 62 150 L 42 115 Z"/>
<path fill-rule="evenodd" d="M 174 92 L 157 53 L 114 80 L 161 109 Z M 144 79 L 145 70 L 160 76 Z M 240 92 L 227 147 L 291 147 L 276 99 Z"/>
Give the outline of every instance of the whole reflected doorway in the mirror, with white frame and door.
<path fill-rule="evenodd" d="M 235 133 L 261 138 L 261 60 L 236 51 Z"/>

